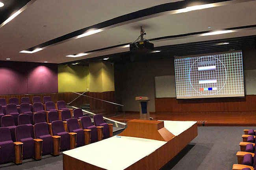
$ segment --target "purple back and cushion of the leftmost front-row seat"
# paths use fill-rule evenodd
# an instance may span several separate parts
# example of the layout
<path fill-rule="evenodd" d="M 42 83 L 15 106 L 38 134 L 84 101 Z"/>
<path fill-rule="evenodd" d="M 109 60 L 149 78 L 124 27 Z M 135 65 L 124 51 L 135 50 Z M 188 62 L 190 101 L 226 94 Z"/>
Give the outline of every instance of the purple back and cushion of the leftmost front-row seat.
<path fill-rule="evenodd" d="M 15 148 L 9 128 L 0 128 L 0 164 L 15 160 Z"/>

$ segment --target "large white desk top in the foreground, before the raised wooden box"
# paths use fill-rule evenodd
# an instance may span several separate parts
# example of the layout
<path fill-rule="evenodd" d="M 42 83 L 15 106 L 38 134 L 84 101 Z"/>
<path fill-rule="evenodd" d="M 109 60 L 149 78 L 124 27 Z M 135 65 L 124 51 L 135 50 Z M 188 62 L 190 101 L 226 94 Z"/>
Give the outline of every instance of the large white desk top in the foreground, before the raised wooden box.
<path fill-rule="evenodd" d="M 63 154 L 106 170 L 124 170 L 163 146 L 164 141 L 113 136 Z"/>

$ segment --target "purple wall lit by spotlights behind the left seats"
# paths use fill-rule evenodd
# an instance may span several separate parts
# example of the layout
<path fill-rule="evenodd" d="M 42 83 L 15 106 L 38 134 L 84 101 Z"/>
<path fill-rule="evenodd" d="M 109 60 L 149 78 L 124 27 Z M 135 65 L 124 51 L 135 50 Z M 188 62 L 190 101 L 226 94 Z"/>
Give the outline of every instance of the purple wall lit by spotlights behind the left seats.
<path fill-rule="evenodd" d="M 0 95 L 58 93 L 57 64 L 0 61 Z"/>

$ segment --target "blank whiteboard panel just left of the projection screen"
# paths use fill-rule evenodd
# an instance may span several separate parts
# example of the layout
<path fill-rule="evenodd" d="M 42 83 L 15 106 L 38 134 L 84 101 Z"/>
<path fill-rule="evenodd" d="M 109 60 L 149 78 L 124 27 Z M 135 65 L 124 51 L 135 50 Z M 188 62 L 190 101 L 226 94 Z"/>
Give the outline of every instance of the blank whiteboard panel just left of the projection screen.
<path fill-rule="evenodd" d="M 176 97 L 175 76 L 165 75 L 155 77 L 156 97 Z"/>

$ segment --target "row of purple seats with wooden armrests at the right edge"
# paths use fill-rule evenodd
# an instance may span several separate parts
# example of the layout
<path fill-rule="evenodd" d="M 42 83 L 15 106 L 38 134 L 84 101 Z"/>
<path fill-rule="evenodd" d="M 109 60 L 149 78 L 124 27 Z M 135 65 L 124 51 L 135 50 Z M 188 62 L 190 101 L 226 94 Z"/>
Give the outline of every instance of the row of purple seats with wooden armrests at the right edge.
<path fill-rule="evenodd" d="M 256 132 L 253 129 L 244 130 L 243 142 L 239 143 L 240 150 L 237 152 L 238 164 L 233 165 L 233 170 L 256 170 Z"/>

